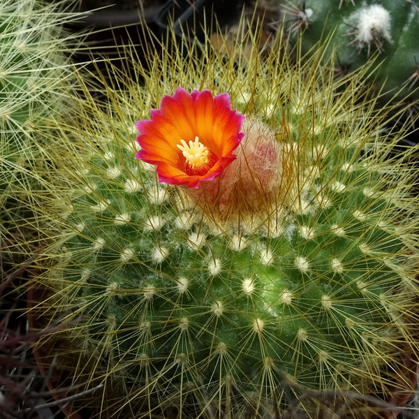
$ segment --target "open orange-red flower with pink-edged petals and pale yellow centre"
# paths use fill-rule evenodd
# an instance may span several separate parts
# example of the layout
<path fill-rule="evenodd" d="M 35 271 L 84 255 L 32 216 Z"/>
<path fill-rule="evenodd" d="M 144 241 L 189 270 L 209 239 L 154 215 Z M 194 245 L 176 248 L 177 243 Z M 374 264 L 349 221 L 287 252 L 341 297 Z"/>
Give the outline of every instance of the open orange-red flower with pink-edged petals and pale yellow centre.
<path fill-rule="evenodd" d="M 177 87 L 150 114 L 151 120 L 135 124 L 141 147 L 135 157 L 157 166 L 159 182 L 197 188 L 236 159 L 244 116 L 231 110 L 228 94 L 213 98 L 210 90 L 189 94 Z"/>

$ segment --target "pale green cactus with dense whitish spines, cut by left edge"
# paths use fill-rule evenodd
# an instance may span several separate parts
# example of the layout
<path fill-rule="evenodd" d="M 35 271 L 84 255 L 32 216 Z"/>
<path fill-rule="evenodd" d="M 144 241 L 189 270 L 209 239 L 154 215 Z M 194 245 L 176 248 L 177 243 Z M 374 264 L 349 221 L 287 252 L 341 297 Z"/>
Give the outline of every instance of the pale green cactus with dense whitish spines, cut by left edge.
<path fill-rule="evenodd" d="M 75 20 L 70 3 L 38 0 L 0 0 L 0 231 L 1 247 L 12 249 L 13 235 L 31 214 L 24 201 L 42 179 L 27 161 L 41 163 L 35 143 L 54 119 L 66 114 L 65 92 L 72 80 L 67 55 L 80 43 L 68 35 L 64 22 Z M 36 185 L 36 186 L 35 186 Z M 19 232 L 18 232 L 19 230 Z M 28 240 L 29 240 L 29 236 Z M 8 252 L 4 252 L 6 255 Z"/>

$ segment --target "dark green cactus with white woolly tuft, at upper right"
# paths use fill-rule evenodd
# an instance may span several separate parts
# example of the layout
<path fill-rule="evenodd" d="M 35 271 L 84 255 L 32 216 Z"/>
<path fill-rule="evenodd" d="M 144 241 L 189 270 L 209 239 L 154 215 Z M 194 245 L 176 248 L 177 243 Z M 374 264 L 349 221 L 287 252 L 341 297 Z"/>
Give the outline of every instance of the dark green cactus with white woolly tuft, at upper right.
<path fill-rule="evenodd" d="M 304 52 L 332 34 L 328 54 L 337 48 L 338 73 L 352 71 L 377 54 L 369 78 L 381 94 L 397 101 L 419 98 L 419 8 L 415 1 L 284 1 L 285 22 L 302 31 Z M 397 95 L 396 95 L 397 94 Z"/>

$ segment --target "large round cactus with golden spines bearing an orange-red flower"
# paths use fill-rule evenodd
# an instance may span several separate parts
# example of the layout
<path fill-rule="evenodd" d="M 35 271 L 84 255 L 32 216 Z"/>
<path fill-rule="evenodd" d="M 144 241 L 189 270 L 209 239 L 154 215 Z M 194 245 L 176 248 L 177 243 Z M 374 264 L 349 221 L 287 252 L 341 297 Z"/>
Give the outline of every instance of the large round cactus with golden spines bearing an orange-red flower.
<path fill-rule="evenodd" d="M 335 80 L 321 47 L 260 60 L 256 40 L 199 59 L 163 45 L 135 64 L 141 84 L 113 70 L 106 103 L 86 82 L 45 148 L 55 187 L 33 210 L 50 246 L 32 286 L 42 316 L 73 322 L 48 337 L 63 374 L 104 384 L 91 418 L 273 416 L 287 388 L 409 389 L 416 149 L 392 155 L 403 132 L 383 132 L 362 73 Z"/>

